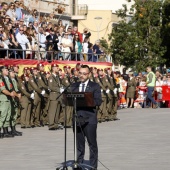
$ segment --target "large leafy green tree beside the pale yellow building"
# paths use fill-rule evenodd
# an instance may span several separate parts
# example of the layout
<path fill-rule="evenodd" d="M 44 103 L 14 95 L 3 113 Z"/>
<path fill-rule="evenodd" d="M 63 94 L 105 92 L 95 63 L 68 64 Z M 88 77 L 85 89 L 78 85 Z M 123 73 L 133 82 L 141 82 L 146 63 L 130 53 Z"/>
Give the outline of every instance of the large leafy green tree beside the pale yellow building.
<path fill-rule="evenodd" d="M 116 14 L 121 20 L 109 35 L 110 50 L 115 62 L 143 71 L 148 65 L 159 66 L 165 62 L 162 56 L 166 48 L 161 38 L 160 1 L 135 0 L 128 11 L 123 5 Z"/>

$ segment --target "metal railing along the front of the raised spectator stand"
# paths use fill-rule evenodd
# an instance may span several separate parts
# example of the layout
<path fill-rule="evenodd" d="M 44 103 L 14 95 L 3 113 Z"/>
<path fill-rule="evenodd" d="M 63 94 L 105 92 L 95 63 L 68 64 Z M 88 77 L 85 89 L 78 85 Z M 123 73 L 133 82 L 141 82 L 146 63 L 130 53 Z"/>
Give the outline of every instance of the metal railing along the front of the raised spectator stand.
<path fill-rule="evenodd" d="M 0 48 L 0 58 L 3 58 L 2 51 L 4 51 L 6 55 L 4 59 L 9 59 L 9 58 L 31 59 L 31 60 L 44 60 L 48 62 L 51 62 L 53 60 L 67 60 L 67 61 L 111 62 L 112 63 L 112 58 L 106 54 Z"/>

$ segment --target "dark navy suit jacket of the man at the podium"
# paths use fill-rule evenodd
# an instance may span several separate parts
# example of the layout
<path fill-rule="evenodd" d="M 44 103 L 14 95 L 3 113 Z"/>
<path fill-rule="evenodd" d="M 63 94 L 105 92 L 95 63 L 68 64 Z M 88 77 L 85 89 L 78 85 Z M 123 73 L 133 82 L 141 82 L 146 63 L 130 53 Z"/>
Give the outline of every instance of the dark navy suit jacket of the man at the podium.
<path fill-rule="evenodd" d="M 79 86 L 81 82 L 76 82 L 71 86 L 72 92 L 79 92 Z M 95 106 L 98 107 L 102 103 L 100 86 L 89 80 L 85 92 L 92 92 L 94 97 Z M 97 124 L 97 110 L 96 107 L 77 107 L 77 116 L 84 120 L 81 122 L 89 124 Z"/>

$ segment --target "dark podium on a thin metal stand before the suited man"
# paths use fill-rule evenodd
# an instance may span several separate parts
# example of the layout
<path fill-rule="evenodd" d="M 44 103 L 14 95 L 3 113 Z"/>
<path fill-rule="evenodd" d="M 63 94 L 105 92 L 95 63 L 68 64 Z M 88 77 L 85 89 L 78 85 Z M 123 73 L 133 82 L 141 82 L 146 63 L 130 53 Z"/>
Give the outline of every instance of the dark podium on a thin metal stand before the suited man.
<path fill-rule="evenodd" d="M 65 160 L 64 163 L 56 168 L 56 170 L 68 170 L 68 167 L 72 167 L 73 170 L 80 169 L 94 169 L 90 165 L 82 164 L 77 162 L 77 107 L 95 107 L 93 93 L 91 92 L 65 92 L 63 93 L 63 103 L 66 106 L 74 107 L 74 161 L 68 162 L 66 161 L 66 128 L 65 128 Z M 65 120 L 66 123 L 66 120 Z"/>

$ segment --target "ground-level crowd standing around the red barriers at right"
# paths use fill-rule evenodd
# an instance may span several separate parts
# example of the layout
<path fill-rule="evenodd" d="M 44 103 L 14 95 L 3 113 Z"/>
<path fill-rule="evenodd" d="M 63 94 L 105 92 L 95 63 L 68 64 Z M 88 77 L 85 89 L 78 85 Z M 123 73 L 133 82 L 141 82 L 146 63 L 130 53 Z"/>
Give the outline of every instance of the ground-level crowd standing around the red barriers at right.
<path fill-rule="evenodd" d="M 170 100 L 164 100 L 163 86 L 170 86 L 170 72 L 161 74 L 159 70 L 155 71 L 156 82 L 153 91 L 153 98 L 159 108 L 169 108 Z M 117 72 L 117 81 L 120 84 L 119 88 L 119 108 L 147 108 L 148 89 L 147 89 L 147 72 L 125 72 L 121 74 Z M 132 88 L 133 87 L 133 88 Z"/>

